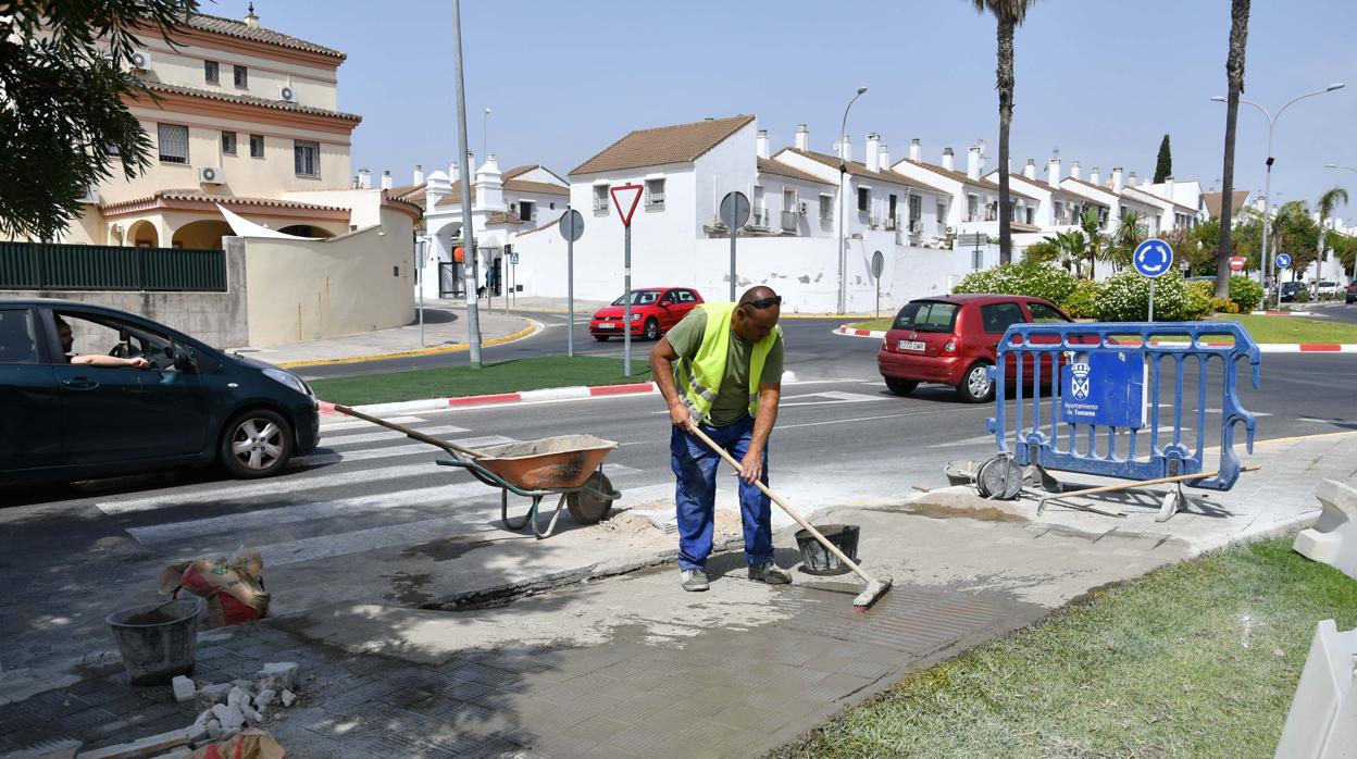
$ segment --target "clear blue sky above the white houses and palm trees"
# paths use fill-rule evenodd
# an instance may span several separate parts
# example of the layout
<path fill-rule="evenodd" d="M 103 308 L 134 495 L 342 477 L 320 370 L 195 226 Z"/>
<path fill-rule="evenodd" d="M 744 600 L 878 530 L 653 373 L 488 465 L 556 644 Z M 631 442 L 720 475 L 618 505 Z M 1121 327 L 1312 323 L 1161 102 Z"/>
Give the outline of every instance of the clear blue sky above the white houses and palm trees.
<path fill-rule="evenodd" d="M 246 0 L 204 3 L 244 15 Z M 452 3 L 448 0 L 255 0 L 265 26 L 349 54 L 339 106 L 360 113 L 353 167 L 391 168 L 407 183 L 415 163 L 446 168 L 456 153 Z M 1357 204 L 1357 3 L 1254 0 L 1244 98 L 1278 119 L 1273 191 L 1314 201 L 1342 185 Z M 1109 177 L 1149 178 L 1159 140 L 1172 140 L 1174 174 L 1208 189 L 1221 172 L 1228 0 L 1045 0 L 1016 38 L 1012 159 L 1045 167 L 1060 148 Z M 855 156 L 879 132 L 894 159 L 912 137 L 938 160 L 943 147 L 988 141 L 997 163 L 995 24 L 969 0 L 803 1 L 464 0 L 471 149 L 501 166 L 541 163 L 558 174 L 631 129 L 754 113 L 773 148 L 809 124 L 828 151 L 859 84 L 848 130 Z M 1261 191 L 1266 124 L 1240 106 L 1235 186 Z M 376 179 L 375 179 L 376 181 Z M 1357 219 L 1357 205 L 1339 212 Z"/>

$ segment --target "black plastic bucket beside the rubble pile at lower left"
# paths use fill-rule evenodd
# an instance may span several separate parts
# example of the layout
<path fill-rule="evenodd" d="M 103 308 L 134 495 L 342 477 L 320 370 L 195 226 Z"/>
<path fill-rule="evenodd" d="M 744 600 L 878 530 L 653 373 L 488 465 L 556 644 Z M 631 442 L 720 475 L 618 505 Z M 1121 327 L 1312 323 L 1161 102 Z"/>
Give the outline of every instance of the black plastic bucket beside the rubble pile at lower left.
<path fill-rule="evenodd" d="M 190 596 L 110 614 L 104 621 L 134 686 L 160 686 L 193 673 L 202 599 Z"/>

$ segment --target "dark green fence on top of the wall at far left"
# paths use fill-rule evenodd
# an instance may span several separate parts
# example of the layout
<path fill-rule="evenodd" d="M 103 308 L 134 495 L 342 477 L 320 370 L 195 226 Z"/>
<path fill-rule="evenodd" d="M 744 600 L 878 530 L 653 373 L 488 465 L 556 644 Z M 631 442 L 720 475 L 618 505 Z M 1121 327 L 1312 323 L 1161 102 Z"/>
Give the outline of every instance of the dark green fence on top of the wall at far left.
<path fill-rule="evenodd" d="M 0 289 L 225 292 L 227 254 L 0 242 Z"/>

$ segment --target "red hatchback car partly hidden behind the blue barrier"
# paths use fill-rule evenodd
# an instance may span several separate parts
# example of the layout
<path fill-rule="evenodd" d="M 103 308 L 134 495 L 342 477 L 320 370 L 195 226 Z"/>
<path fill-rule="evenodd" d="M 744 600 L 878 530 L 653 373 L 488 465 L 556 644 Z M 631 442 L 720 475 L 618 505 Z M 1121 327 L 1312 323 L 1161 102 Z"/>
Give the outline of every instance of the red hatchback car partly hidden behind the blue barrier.
<path fill-rule="evenodd" d="M 995 387 L 985 369 L 995 365 L 1008 325 L 1023 322 L 1073 319 L 1039 297 L 947 295 L 912 300 L 886 333 L 877 367 L 886 387 L 898 395 L 913 392 L 921 382 L 934 382 L 955 387 L 962 401 L 991 401 Z M 1015 380 L 1015 375 L 1016 367 L 1010 367 L 1007 379 Z"/>

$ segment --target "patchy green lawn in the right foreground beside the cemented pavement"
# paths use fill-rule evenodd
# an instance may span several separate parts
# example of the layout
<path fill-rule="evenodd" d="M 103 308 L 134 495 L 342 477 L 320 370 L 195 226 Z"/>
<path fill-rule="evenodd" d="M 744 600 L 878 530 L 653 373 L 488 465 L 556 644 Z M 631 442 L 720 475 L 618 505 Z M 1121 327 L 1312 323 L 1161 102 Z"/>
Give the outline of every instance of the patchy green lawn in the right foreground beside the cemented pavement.
<path fill-rule="evenodd" d="M 1357 582 L 1292 538 L 1206 554 L 920 672 L 778 756 L 1270 758 Z"/>

